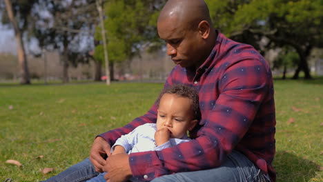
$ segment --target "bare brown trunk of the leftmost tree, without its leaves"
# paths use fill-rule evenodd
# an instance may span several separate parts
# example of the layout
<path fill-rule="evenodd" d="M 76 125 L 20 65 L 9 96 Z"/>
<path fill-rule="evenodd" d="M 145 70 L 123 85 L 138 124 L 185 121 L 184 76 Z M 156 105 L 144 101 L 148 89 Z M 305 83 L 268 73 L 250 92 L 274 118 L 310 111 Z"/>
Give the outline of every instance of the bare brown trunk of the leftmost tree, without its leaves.
<path fill-rule="evenodd" d="M 10 22 L 12 23 L 12 26 L 14 27 L 14 38 L 17 41 L 20 83 L 30 84 L 27 57 L 26 57 L 25 48 L 23 47 L 22 33 L 18 28 L 16 19 L 14 19 L 14 14 L 12 11 L 12 5 L 10 0 L 5 0 L 5 3 L 6 3 L 6 10 L 8 12 L 8 17 L 10 19 Z"/>

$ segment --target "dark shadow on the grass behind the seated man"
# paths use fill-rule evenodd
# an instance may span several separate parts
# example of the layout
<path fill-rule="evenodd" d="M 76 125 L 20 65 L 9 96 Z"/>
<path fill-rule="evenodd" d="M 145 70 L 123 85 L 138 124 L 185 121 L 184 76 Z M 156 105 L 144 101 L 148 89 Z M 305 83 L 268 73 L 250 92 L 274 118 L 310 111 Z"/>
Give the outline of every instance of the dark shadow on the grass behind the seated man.
<path fill-rule="evenodd" d="M 309 181 L 319 171 L 319 165 L 290 152 L 277 151 L 273 167 L 277 172 L 277 182 Z"/>

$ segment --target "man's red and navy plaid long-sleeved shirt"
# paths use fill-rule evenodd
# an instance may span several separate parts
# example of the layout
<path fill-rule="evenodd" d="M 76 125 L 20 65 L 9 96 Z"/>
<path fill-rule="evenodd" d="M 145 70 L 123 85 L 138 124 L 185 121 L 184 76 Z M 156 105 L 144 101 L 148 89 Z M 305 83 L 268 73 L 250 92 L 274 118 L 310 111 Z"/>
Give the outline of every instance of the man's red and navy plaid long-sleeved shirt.
<path fill-rule="evenodd" d="M 195 71 L 176 65 L 164 88 L 184 83 L 199 92 L 197 138 L 161 151 L 129 156 L 133 176 L 143 181 L 174 172 L 216 168 L 235 149 L 275 181 L 275 103 L 268 63 L 251 46 L 218 32 L 208 59 Z M 138 125 L 156 123 L 157 105 L 142 117 L 100 136 L 110 145 Z"/>

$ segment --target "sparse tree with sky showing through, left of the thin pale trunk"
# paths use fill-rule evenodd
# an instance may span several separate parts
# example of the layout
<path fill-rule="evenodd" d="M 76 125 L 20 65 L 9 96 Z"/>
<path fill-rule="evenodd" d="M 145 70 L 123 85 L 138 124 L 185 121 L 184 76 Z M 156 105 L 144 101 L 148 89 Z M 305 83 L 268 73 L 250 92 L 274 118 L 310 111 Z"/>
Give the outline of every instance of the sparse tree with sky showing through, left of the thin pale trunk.
<path fill-rule="evenodd" d="M 39 1 L 35 9 L 34 35 L 41 48 L 61 52 L 63 82 L 67 83 L 70 65 L 77 66 L 92 59 L 92 37 L 97 23 L 95 0 Z"/>

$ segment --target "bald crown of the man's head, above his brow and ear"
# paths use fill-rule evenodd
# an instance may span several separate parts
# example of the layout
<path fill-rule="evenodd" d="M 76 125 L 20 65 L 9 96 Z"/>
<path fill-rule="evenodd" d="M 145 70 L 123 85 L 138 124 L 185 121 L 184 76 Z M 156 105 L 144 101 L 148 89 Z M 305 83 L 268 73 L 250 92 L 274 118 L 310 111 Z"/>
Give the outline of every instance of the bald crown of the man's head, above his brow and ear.
<path fill-rule="evenodd" d="M 188 23 L 187 26 L 195 28 L 199 22 L 208 21 L 212 26 L 204 0 L 168 0 L 159 14 L 158 22 L 169 20 Z"/>

